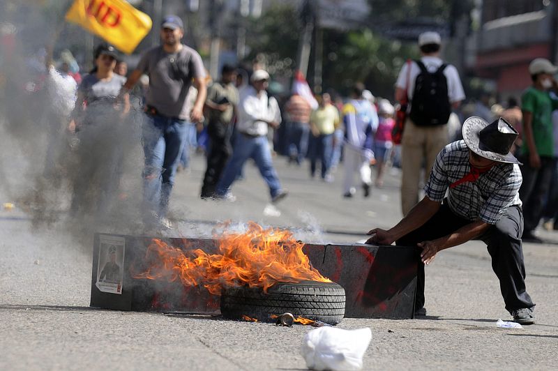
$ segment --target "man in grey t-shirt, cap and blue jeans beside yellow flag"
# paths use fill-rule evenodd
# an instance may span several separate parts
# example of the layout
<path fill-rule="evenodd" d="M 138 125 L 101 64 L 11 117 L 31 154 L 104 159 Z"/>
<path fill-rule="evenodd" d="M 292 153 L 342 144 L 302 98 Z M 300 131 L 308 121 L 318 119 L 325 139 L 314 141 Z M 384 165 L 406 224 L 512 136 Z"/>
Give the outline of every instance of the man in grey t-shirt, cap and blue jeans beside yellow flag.
<path fill-rule="evenodd" d="M 184 36 L 182 20 L 176 15 L 165 17 L 160 36 L 163 44 L 142 56 L 124 84 L 123 91 L 132 89 L 143 74 L 149 76 L 142 139 L 145 155 L 144 202 L 151 212 L 144 215 L 144 221 L 172 228 L 165 217 L 170 192 L 186 139 L 188 119 L 193 123 L 202 120 L 206 84 L 201 56 L 181 43 Z M 198 94 L 188 116 L 186 97 L 192 84 Z"/>

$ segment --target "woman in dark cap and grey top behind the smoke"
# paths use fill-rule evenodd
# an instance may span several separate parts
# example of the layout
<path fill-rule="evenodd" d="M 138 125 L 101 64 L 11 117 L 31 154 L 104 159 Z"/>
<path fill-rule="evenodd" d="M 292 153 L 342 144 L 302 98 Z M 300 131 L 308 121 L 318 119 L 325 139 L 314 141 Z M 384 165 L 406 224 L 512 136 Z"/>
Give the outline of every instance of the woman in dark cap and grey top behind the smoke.
<path fill-rule="evenodd" d="M 99 45 L 95 65 L 77 89 L 73 120 L 68 126 L 76 132 L 79 145 L 73 156 L 73 215 L 93 215 L 107 220 L 107 211 L 116 202 L 123 158 L 132 145 L 128 93 L 119 96 L 126 77 L 114 73 L 116 50 Z"/>

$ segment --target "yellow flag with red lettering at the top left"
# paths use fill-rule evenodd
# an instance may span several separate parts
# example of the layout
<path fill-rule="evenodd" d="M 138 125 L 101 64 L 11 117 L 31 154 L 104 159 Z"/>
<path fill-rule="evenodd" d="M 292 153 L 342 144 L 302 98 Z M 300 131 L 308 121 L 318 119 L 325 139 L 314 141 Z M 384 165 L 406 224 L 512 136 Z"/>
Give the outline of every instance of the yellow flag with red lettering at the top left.
<path fill-rule="evenodd" d="M 130 54 L 149 33 L 151 18 L 123 0 L 75 0 L 66 20 Z"/>

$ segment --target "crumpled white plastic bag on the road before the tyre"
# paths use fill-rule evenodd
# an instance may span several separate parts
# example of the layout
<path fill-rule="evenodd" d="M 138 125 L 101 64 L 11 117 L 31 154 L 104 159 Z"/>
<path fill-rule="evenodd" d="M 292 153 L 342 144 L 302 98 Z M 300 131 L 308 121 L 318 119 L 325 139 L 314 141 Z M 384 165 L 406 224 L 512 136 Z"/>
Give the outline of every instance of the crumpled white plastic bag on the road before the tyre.
<path fill-rule="evenodd" d="M 320 327 L 304 336 L 301 351 L 310 370 L 361 370 L 370 340 L 372 331 L 368 327 L 358 330 Z"/>

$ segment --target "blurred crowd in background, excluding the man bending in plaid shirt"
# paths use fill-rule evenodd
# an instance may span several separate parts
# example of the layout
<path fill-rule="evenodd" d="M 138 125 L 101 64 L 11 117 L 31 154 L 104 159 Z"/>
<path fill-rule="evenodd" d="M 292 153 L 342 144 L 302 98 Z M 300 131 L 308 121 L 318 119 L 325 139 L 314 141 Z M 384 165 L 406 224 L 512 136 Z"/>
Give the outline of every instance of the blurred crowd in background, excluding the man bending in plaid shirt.
<path fill-rule="evenodd" d="M 531 63 L 533 86 L 521 97 L 521 105 L 515 97 L 506 105 L 491 104 L 487 91 L 467 101 L 458 70 L 440 57 L 439 34 L 425 32 L 418 38 L 421 58 L 402 66 L 393 100 L 373 96 L 360 82 L 348 98 L 327 89 L 315 97 L 299 75 L 289 96 L 274 96 L 269 93 L 271 77 L 258 63 L 251 70 L 225 64 L 220 78 L 212 82 L 201 56 L 182 42 L 183 36 L 181 18 L 170 15 L 160 25 L 161 45 L 142 54 L 130 73 L 119 52 L 106 44 L 93 51 L 89 73 L 80 73 L 68 50 L 47 72 L 57 88 L 51 94 L 58 97 L 54 106 L 65 107 L 53 109 L 51 121 L 66 119 L 68 130 L 80 136 L 82 151 L 88 136 L 80 132 L 91 122 L 100 116 L 102 121 L 125 120 L 130 111 L 142 110 L 146 223 L 172 226 L 166 213 L 176 172 L 188 169 L 194 151 L 206 156 L 200 197 L 228 201 L 236 198 L 232 186 L 243 178 L 243 165 L 250 158 L 269 186 L 273 203 L 288 194 L 273 167 L 278 154 L 303 169 L 308 163 L 308 176 L 319 174 L 326 183 L 333 182 L 342 161 L 340 195 L 346 198 L 359 188 L 369 197 L 373 186 L 382 188 L 386 167 L 397 166 L 402 169 L 401 210 L 407 215 L 418 203 L 439 151 L 462 139 L 467 117 L 478 116 L 487 122 L 502 117 L 518 131 L 512 152 L 523 163 L 523 239 L 538 240 L 534 229 L 541 218 L 546 229 L 555 228 L 558 111 L 549 93 L 556 84 L 550 61 Z M 45 61 L 43 52 L 33 63 L 40 64 L 40 57 Z M 392 131 L 400 107 L 406 107 L 407 117 L 396 145 Z M 46 159 L 47 165 L 52 162 L 52 153 Z M 77 193 L 87 185 L 85 174 L 80 178 L 84 181 L 75 185 Z M 78 209 L 75 199 L 72 210 Z"/>

